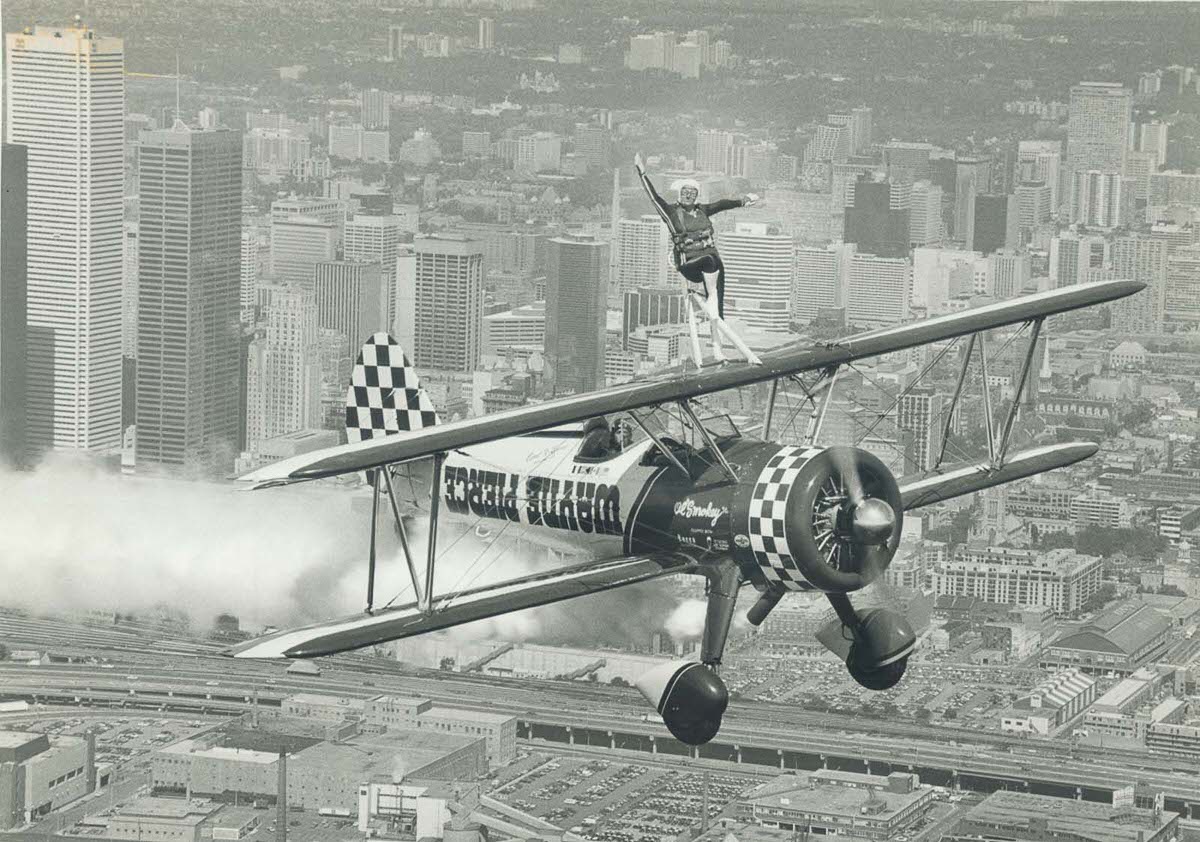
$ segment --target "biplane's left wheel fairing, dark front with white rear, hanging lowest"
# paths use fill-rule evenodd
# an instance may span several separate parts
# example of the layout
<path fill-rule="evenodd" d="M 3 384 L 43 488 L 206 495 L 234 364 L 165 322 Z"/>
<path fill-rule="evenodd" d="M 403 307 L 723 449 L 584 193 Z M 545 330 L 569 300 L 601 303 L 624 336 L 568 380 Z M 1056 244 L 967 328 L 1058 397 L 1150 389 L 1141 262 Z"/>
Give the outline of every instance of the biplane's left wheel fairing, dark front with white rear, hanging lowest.
<path fill-rule="evenodd" d="M 695 661 L 670 661 L 638 678 L 634 686 L 654 705 L 680 742 L 701 746 L 716 736 L 730 704 L 720 675 Z"/>

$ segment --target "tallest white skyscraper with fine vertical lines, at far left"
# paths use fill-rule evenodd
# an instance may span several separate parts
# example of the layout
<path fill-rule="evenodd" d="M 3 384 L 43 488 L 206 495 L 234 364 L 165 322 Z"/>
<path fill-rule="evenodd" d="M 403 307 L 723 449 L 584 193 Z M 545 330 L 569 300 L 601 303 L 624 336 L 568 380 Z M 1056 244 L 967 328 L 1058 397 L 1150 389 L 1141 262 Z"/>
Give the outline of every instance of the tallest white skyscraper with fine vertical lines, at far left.
<path fill-rule="evenodd" d="M 28 149 L 29 444 L 116 447 L 124 43 L 82 24 L 5 37 L 6 139 Z"/>

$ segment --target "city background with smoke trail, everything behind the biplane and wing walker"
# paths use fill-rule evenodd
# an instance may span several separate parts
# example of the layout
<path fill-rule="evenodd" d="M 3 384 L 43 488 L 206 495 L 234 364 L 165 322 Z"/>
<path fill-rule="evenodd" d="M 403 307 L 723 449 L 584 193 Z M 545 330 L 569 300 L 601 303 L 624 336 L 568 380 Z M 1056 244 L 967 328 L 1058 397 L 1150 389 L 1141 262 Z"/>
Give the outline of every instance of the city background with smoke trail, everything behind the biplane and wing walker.
<path fill-rule="evenodd" d="M 1200 840 L 1200 5 L 4 13 L 0 830 Z M 865 595 L 922 634 L 894 690 L 817 643 L 820 594 L 739 620 L 700 750 L 629 686 L 696 650 L 690 582 L 221 657 L 361 609 L 371 487 L 232 479 L 346 440 L 366 337 L 396 337 L 443 420 L 691 365 L 637 152 L 662 192 L 761 196 L 714 219 L 756 350 L 1145 283 L 1048 321 L 1024 384 L 997 331 L 982 368 L 947 345 L 848 368 L 821 421 L 898 476 L 986 455 L 1014 405 L 1021 441 L 1098 455 L 906 518 Z M 710 405 L 752 432 L 767 401 Z M 772 438 L 812 411 L 784 384 Z M 422 476 L 401 483 L 418 540 Z M 580 560 L 456 543 L 456 587 Z"/>

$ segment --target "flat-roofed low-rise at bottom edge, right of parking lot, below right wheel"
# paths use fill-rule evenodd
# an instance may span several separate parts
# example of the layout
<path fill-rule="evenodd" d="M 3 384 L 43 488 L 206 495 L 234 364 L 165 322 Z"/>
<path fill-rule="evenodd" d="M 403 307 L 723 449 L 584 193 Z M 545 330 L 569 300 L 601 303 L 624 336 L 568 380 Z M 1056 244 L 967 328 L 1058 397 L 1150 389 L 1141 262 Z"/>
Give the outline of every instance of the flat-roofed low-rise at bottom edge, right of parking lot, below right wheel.
<path fill-rule="evenodd" d="M 858 840 L 893 840 L 934 801 L 917 775 L 859 775 L 821 769 L 784 775 L 742 795 L 737 818 L 767 828 Z"/>

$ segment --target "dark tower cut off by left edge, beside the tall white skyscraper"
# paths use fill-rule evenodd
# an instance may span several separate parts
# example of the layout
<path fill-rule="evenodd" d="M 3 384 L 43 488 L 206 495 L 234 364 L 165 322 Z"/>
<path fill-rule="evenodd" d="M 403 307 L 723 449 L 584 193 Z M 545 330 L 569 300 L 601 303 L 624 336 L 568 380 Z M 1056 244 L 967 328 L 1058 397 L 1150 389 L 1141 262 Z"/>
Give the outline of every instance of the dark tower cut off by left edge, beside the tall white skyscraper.
<path fill-rule="evenodd" d="M 0 149 L 0 467 L 25 463 L 25 239 L 28 151 L 17 144 Z"/>

